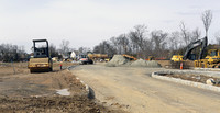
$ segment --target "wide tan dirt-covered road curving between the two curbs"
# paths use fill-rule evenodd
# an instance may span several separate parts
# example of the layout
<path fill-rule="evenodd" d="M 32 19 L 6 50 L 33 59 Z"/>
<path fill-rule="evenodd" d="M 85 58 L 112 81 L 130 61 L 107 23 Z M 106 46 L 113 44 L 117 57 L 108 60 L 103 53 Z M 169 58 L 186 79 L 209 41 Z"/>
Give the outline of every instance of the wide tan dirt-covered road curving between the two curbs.
<path fill-rule="evenodd" d="M 151 78 L 163 68 L 84 65 L 72 72 L 107 105 L 132 113 L 219 113 L 220 94 Z"/>

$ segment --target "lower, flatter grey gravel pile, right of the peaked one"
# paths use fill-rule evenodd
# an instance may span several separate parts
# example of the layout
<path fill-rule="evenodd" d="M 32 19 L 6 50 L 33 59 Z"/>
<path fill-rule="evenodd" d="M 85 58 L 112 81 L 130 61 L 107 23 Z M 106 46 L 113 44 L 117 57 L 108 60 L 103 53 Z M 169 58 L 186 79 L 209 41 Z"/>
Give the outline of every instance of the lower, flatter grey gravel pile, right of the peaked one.
<path fill-rule="evenodd" d="M 135 60 L 133 63 L 131 63 L 132 67 L 161 67 L 161 65 L 158 63 L 156 63 L 155 60 L 143 60 L 143 59 L 139 59 Z"/>

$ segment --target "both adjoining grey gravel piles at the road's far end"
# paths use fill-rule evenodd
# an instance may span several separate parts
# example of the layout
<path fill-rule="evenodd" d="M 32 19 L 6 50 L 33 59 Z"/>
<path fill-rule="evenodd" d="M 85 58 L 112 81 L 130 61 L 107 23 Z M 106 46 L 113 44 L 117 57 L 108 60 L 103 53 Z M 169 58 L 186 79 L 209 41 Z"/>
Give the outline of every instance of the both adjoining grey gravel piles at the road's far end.
<path fill-rule="evenodd" d="M 143 60 L 139 59 L 135 61 L 130 61 L 129 59 L 124 58 L 122 55 L 114 55 L 113 58 L 106 64 L 108 67 L 116 67 L 116 66 L 131 66 L 131 67 L 161 67 L 156 61 L 154 60 Z"/>

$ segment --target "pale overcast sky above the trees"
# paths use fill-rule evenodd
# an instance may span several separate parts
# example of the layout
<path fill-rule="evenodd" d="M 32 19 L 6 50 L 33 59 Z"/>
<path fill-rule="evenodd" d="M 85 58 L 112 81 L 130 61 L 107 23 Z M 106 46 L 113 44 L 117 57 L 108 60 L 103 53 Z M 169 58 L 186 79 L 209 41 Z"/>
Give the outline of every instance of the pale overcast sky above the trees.
<path fill-rule="evenodd" d="M 180 21 L 205 34 L 205 10 L 213 13 L 213 42 L 220 32 L 219 0 L 0 0 L 0 44 L 24 45 L 30 52 L 33 38 L 47 38 L 57 47 L 67 39 L 72 48 L 92 48 L 138 24 L 173 32 L 179 31 Z"/>

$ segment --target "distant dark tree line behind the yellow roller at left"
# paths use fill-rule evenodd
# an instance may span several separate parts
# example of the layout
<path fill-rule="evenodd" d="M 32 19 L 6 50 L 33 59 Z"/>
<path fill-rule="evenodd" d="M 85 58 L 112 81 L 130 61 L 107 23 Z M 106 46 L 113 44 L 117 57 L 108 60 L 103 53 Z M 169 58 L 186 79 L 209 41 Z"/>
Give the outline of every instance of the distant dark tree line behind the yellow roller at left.
<path fill-rule="evenodd" d="M 48 45 L 51 57 L 58 57 L 58 59 L 69 58 L 72 52 L 87 53 L 91 52 L 90 48 L 79 47 L 78 49 L 70 47 L 70 42 L 63 39 L 57 48 L 53 43 Z M 33 50 L 33 49 L 32 49 Z M 0 44 L 0 61 L 28 61 L 33 56 L 33 52 L 28 54 L 24 46 L 18 46 L 12 44 Z"/>

